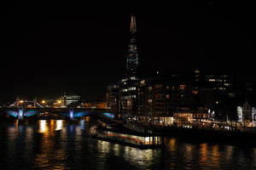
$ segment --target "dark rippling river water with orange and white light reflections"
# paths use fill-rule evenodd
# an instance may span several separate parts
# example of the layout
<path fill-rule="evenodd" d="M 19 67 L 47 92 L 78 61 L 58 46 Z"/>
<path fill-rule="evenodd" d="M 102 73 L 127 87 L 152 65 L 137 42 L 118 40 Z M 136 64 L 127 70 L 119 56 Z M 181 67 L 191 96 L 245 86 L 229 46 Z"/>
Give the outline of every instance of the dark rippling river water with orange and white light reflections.
<path fill-rule="evenodd" d="M 256 148 L 165 139 L 139 150 L 88 138 L 90 121 L 0 125 L 0 169 L 256 169 Z"/>

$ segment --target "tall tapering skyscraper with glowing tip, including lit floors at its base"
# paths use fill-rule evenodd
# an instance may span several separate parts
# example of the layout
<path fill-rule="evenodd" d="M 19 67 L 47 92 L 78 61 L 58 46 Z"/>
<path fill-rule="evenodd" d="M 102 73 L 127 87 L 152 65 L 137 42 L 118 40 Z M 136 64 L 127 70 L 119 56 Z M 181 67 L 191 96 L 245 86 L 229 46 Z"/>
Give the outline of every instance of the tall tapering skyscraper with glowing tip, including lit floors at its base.
<path fill-rule="evenodd" d="M 131 16 L 130 34 L 131 39 L 128 45 L 125 75 L 119 82 L 119 113 L 121 116 L 136 114 L 138 53 L 136 18 L 133 15 Z"/>

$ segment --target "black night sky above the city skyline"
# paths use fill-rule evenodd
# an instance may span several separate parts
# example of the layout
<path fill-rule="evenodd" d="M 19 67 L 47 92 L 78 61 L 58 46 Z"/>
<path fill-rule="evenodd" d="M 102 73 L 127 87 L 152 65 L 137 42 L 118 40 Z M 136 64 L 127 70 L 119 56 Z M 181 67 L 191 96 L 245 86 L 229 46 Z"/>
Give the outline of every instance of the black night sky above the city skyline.
<path fill-rule="evenodd" d="M 254 79 L 253 4 L 156 2 L 0 4 L 0 99 L 64 91 L 101 99 L 124 72 L 131 14 L 144 71 L 202 67 Z"/>

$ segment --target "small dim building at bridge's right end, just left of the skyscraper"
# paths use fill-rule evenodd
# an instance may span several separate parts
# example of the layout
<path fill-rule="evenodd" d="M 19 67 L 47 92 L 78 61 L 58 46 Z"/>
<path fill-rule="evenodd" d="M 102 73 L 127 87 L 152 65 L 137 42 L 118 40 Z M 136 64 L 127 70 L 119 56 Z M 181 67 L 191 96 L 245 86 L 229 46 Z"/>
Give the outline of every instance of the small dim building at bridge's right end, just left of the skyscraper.
<path fill-rule="evenodd" d="M 108 85 L 106 101 L 108 112 L 117 114 L 119 112 L 119 85 Z"/>

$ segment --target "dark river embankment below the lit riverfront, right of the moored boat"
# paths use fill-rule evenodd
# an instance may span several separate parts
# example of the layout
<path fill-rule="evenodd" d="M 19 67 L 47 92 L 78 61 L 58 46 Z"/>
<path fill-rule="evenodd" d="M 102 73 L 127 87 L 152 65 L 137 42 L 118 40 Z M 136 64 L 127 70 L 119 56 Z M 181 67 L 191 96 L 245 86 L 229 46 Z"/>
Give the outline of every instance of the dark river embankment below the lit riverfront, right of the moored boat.
<path fill-rule="evenodd" d="M 139 133 L 152 133 L 170 138 L 196 139 L 222 144 L 249 144 L 256 146 L 256 129 L 251 127 L 220 130 L 196 127 L 163 127 L 150 124 L 123 122 L 123 126 Z"/>

